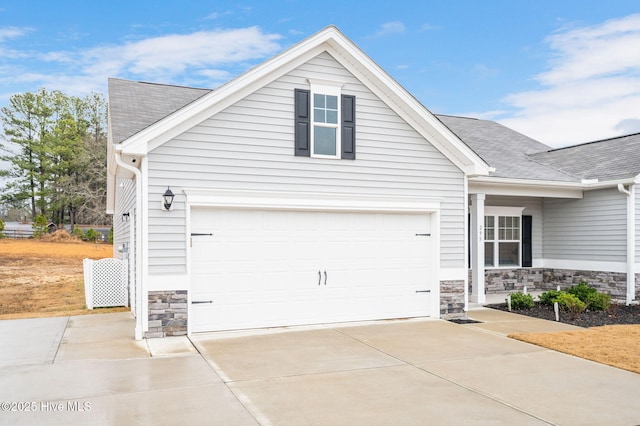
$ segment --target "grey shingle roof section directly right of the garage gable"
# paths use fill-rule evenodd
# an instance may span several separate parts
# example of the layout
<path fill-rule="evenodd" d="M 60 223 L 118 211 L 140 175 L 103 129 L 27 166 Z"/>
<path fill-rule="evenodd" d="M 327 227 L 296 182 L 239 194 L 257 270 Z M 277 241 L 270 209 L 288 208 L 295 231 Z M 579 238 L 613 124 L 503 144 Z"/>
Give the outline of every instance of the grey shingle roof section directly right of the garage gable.
<path fill-rule="evenodd" d="M 549 151 L 536 141 L 495 121 L 436 115 L 495 171 L 491 177 L 580 182 L 572 173 L 538 161 L 532 154 Z"/>

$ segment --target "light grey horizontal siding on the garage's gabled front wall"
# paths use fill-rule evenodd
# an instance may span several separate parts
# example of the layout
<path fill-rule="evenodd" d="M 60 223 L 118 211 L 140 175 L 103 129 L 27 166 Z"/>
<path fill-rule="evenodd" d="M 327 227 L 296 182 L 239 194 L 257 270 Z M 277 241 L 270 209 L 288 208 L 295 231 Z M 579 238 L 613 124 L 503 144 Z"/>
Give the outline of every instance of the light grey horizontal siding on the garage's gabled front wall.
<path fill-rule="evenodd" d="M 356 96 L 356 160 L 294 156 L 294 88 L 307 78 L 337 78 Z M 463 173 L 330 55 L 322 54 L 216 114 L 149 155 L 151 274 L 185 268 L 184 196 L 159 209 L 170 185 L 438 197 L 441 266 L 464 267 Z"/>

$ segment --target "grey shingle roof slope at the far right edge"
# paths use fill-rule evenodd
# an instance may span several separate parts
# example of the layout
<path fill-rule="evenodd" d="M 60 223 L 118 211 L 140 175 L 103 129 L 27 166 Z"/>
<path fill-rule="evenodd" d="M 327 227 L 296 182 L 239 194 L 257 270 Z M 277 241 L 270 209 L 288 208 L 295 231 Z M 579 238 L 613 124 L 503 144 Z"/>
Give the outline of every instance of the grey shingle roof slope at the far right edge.
<path fill-rule="evenodd" d="M 531 158 L 580 179 L 635 178 L 640 175 L 640 133 L 552 149 Z"/>

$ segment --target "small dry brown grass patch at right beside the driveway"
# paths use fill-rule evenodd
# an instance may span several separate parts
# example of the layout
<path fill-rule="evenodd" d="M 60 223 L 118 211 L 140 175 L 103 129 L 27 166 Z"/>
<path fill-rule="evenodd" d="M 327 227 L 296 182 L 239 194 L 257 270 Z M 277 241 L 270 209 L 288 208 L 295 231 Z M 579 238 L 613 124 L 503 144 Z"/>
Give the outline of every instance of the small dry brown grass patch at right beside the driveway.
<path fill-rule="evenodd" d="M 640 373 L 640 325 L 607 325 L 576 331 L 512 334 L 509 337 Z"/>

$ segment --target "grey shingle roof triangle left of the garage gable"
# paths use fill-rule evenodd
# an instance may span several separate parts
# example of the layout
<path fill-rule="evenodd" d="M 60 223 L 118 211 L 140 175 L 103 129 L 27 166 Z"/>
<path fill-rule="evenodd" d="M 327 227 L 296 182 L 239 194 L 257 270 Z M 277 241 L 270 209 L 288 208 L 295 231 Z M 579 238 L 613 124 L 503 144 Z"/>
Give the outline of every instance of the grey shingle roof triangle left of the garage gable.
<path fill-rule="evenodd" d="M 210 93 L 209 89 L 109 79 L 113 143 L 120 143 Z"/>

